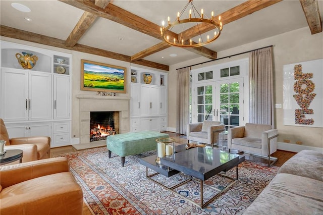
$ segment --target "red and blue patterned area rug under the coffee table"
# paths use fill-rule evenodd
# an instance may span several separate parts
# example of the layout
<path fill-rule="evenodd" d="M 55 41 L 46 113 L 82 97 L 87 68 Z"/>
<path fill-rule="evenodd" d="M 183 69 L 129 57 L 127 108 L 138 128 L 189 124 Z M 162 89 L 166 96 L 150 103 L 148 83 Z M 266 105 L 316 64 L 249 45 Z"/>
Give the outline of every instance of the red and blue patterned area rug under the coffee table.
<path fill-rule="evenodd" d="M 239 165 L 239 181 L 201 209 L 146 178 L 146 168 L 139 164 L 139 159 L 152 154 L 155 151 L 127 156 L 124 168 L 121 167 L 119 156 L 113 154 L 108 158 L 106 147 L 59 156 L 69 158 L 71 172 L 81 185 L 84 200 L 93 214 L 241 214 L 279 169 L 246 160 Z M 227 174 L 235 176 L 235 168 Z M 155 180 L 166 184 L 177 183 L 183 177 L 179 174 L 170 178 L 157 175 Z M 228 180 L 214 176 L 205 183 L 221 189 L 230 183 Z M 188 183 L 177 188 L 177 192 L 199 201 L 198 185 Z M 208 189 L 204 189 L 204 192 L 205 198 L 211 194 Z"/>

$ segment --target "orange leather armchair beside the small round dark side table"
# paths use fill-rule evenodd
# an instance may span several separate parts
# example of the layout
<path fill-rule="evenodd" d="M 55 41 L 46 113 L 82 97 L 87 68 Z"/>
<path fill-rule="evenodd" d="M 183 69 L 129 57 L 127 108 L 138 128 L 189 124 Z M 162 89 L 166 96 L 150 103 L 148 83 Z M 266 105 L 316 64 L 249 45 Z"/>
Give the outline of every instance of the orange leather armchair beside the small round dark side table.
<path fill-rule="evenodd" d="M 3 119 L 0 119 L 0 139 L 7 142 L 5 149 L 23 150 L 22 163 L 50 157 L 50 137 L 9 138 Z"/>

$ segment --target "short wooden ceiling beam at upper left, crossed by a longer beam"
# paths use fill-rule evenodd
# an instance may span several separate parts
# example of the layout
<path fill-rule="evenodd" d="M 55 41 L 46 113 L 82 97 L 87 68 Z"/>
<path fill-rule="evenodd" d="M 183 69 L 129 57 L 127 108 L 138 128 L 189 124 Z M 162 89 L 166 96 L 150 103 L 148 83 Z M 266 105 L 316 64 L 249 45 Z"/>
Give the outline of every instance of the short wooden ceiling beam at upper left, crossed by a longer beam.
<path fill-rule="evenodd" d="M 106 8 L 109 5 L 110 0 L 95 0 L 95 6 L 100 8 Z M 84 35 L 87 29 L 92 25 L 92 23 L 97 18 L 96 15 L 85 11 L 79 21 L 77 22 L 76 26 L 68 36 L 65 41 L 66 46 L 73 47 L 79 39 Z"/>

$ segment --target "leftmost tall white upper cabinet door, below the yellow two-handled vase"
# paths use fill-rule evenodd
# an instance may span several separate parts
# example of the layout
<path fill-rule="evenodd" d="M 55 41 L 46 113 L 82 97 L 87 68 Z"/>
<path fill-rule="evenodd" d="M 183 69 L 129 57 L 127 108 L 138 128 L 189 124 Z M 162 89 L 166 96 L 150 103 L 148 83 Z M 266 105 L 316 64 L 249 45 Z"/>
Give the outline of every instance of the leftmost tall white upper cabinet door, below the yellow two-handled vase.
<path fill-rule="evenodd" d="M 1 70 L 1 117 L 5 122 L 28 120 L 28 73 Z"/>

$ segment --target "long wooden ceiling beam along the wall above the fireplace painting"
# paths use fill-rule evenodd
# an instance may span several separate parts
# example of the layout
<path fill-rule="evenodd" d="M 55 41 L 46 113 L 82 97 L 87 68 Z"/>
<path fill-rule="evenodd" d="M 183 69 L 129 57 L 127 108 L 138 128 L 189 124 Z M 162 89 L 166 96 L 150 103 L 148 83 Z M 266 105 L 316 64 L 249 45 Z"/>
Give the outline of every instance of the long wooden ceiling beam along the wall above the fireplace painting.
<path fill-rule="evenodd" d="M 59 48 L 65 48 L 74 51 L 80 51 L 84 53 L 91 53 L 93 55 L 102 56 L 106 58 L 116 59 L 120 61 L 125 61 L 133 64 L 139 64 L 151 68 L 156 68 L 160 70 L 169 71 L 169 66 L 164 64 L 158 64 L 151 61 L 139 60 L 132 62 L 130 56 L 122 55 L 120 53 L 107 51 L 99 48 L 94 48 L 87 45 L 75 44 L 73 47 L 68 47 L 65 45 L 65 41 L 62 39 L 57 39 L 49 36 L 44 36 L 41 34 L 32 33 L 29 31 L 23 31 L 16 28 L 11 28 L 8 26 L 0 25 L 0 35 L 15 39 L 21 39 L 25 41 L 35 42 L 43 45 L 50 45 Z"/>

